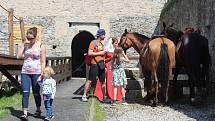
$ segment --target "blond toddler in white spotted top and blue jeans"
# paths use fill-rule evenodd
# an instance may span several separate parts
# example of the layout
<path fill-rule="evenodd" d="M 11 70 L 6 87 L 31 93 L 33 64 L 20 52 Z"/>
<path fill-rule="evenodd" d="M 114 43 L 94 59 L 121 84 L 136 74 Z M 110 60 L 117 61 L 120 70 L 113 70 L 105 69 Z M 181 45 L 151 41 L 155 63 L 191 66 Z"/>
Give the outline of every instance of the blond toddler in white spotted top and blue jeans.
<path fill-rule="evenodd" d="M 56 81 L 51 77 L 53 74 L 55 74 L 54 70 L 51 67 L 46 67 L 42 75 L 42 94 L 46 108 L 46 121 L 50 121 L 54 118 L 52 102 L 56 92 Z"/>

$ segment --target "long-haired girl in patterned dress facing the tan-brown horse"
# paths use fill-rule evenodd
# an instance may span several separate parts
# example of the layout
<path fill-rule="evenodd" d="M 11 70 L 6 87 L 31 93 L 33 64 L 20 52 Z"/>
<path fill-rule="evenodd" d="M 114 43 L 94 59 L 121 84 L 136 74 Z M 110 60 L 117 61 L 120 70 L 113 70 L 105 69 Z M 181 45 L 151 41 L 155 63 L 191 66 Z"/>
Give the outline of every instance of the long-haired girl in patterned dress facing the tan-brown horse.
<path fill-rule="evenodd" d="M 116 96 L 117 96 L 117 87 L 121 87 L 121 93 L 122 93 L 122 104 L 126 105 L 125 100 L 125 88 L 127 85 L 127 79 L 125 75 L 125 70 L 123 67 L 123 62 L 128 63 L 129 59 L 122 50 L 121 47 L 116 47 L 113 53 L 112 57 L 112 83 L 114 86 L 114 100 L 113 100 L 113 106 L 116 106 Z"/>

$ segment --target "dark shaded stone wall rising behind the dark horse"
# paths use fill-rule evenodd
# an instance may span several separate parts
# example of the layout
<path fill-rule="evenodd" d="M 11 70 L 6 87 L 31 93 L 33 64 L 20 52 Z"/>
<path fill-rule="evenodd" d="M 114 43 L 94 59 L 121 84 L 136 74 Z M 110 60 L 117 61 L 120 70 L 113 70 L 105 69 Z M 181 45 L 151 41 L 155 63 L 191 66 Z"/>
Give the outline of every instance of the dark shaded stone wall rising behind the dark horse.
<path fill-rule="evenodd" d="M 169 0 L 161 12 L 156 33 L 160 33 L 162 22 L 174 23 L 174 28 L 184 30 L 186 27 L 200 28 L 202 34 L 209 39 L 212 56 L 211 80 L 215 80 L 215 1 L 214 0 Z"/>

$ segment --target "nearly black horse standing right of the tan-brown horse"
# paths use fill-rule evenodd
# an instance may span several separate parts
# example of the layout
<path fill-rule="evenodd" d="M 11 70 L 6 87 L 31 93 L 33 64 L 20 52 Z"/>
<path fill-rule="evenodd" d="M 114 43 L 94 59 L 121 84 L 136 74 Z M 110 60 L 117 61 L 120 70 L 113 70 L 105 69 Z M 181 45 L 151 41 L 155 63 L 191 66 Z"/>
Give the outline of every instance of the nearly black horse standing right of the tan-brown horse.
<path fill-rule="evenodd" d="M 194 87 L 199 87 L 206 94 L 207 82 L 209 80 L 209 65 L 211 58 L 208 49 L 208 40 L 198 31 L 188 27 L 184 33 L 175 30 L 172 26 L 166 27 L 163 23 L 163 33 L 177 46 L 176 68 L 174 72 L 174 84 L 182 67 L 188 74 L 190 86 L 190 102 L 195 101 Z"/>

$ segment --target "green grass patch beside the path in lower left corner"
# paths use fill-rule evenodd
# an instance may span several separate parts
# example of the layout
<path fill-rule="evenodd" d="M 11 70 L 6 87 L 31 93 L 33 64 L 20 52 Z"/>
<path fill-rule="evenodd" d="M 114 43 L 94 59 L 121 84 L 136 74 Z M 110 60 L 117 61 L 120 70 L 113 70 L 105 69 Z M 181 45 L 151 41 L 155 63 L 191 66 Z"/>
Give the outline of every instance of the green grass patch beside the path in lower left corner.
<path fill-rule="evenodd" d="M 10 114 L 10 110 L 21 105 L 22 95 L 16 93 L 13 96 L 3 96 L 0 98 L 0 119 Z"/>

